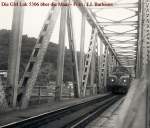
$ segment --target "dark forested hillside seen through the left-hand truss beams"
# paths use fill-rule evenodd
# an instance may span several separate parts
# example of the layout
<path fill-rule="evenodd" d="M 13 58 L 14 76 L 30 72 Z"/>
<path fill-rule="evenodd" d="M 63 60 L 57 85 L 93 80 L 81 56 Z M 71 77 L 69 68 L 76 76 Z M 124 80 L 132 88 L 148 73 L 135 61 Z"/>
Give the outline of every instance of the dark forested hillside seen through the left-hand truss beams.
<path fill-rule="evenodd" d="M 0 30 L 0 70 L 7 70 L 8 68 L 8 45 L 11 42 L 9 40 L 9 30 Z M 20 77 L 24 72 L 25 66 L 28 62 L 30 54 L 35 45 L 36 39 L 23 35 L 22 38 L 22 50 L 21 50 L 21 64 L 20 64 Z M 40 74 L 38 76 L 38 82 L 36 85 L 45 85 L 49 80 L 56 80 L 56 67 L 57 67 L 57 54 L 58 45 L 50 42 L 47 54 L 45 55 L 44 62 Z M 64 68 L 64 81 L 72 80 L 72 67 L 71 67 L 71 55 L 70 51 L 66 49 L 65 54 L 65 68 Z"/>

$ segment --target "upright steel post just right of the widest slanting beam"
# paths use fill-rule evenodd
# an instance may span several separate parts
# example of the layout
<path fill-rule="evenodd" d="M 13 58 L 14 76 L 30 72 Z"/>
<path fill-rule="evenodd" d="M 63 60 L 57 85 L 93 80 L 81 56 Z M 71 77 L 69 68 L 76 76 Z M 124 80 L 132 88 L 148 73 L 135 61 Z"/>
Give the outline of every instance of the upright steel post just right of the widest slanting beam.
<path fill-rule="evenodd" d="M 57 57 L 57 78 L 56 78 L 56 91 L 55 100 L 60 101 L 63 84 L 63 71 L 64 71 L 64 54 L 65 54 L 65 34 L 67 22 L 67 7 L 61 8 L 60 17 L 60 31 L 59 31 L 59 53 Z"/>

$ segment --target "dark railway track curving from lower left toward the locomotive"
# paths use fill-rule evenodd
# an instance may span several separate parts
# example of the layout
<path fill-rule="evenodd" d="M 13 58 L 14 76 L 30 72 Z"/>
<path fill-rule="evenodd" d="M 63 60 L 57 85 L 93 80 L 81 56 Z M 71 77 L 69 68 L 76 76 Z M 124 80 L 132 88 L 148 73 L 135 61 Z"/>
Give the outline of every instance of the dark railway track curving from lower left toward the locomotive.
<path fill-rule="evenodd" d="M 122 96 L 105 95 L 55 111 L 30 117 L 0 128 L 84 128 Z"/>

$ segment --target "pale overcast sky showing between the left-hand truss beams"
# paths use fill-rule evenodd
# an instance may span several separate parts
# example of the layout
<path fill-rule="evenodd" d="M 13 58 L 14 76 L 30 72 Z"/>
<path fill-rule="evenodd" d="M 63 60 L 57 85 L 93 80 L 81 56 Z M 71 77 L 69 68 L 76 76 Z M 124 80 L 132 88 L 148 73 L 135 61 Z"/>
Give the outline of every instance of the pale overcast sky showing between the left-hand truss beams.
<path fill-rule="evenodd" d="M 1 0 L 0 0 L 1 1 Z M 5 0 L 8 1 L 8 0 Z M 9 0 L 13 1 L 13 0 Z M 31 0 L 35 1 L 35 0 Z M 36 0 L 37 1 L 37 0 Z M 46 0 L 44 0 L 46 1 Z M 75 31 L 75 39 L 77 42 L 77 49 L 79 50 L 79 42 L 80 42 L 80 29 L 81 29 L 81 13 L 75 7 L 73 7 L 73 25 Z M 50 7 L 25 7 L 24 13 L 24 24 L 23 24 L 23 34 L 27 34 L 30 37 L 38 37 L 39 32 L 43 26 L 44 20 L 48 14 Z M 0 7 L 0 29 L 11 29 L 12 24 L 12 15 L 13 15 L 13 7 Z M 59 23 L 60 17 L 56 22 L 56 26 L 51 38 L 51 41 L 54 43 L 58 43 L 58 35 L 59 35 Z M 87 23 L 86 23 L 87 24 Z M 86 42 L 89 42 L 88 37 L 90 37 L 90 26 L 86 26 Z M 66 34 L 67 40 L 67 34 Z M 66 45 L 68 46 L 68 41 L 66 41 Z"/>

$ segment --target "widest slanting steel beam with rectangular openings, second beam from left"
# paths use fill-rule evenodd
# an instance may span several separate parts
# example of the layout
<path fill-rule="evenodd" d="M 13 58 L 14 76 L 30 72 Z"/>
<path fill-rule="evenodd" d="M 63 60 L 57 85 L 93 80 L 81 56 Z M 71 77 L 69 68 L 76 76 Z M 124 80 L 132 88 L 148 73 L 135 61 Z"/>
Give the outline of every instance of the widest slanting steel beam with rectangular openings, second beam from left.
<path fill-rule="evenodd" d="M 46 54 L 49 40 L 52 36 L 56 20 L 58 18 L 59 10 L 60 8 L 57 7 L 52 7 L 50 9 L 26 66 L 24 75 L 19 82 L 21 89 L 19 89 L 20 101 L 18 102 L 21 102 L 22 109 L 26 108 L 29 104 L 32 89 L 40 71 L 44 55 Z"/>

